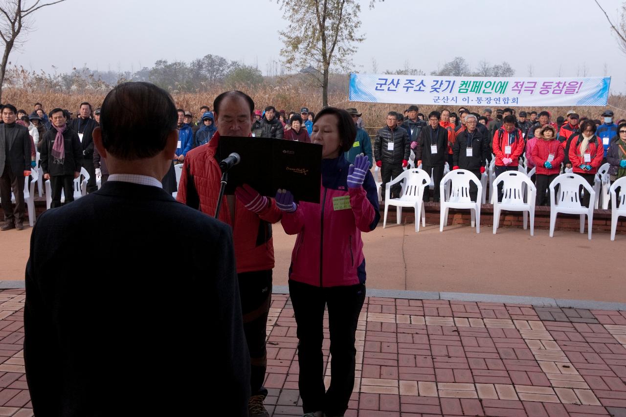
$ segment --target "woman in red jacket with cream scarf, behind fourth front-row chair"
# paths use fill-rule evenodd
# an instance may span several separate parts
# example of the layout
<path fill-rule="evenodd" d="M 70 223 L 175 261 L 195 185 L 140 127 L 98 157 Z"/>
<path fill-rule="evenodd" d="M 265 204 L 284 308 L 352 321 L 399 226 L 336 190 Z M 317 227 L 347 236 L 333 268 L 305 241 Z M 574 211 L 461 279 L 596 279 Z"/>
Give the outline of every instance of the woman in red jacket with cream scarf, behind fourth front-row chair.
<path fill-rule="evenodd" d="M 602 165 L 604 157 L 602 140 L 598 140 L 595 135 L 595 128 L 592 120 L 583 121 L 580 125 L 580 135 L 572 139 L 569 153 L 573 172 L 585 178 L 592 187 L 595 173 Z M 581 202 L 585 207 L 589 207 L 589 193 L 585 193 Z"/>

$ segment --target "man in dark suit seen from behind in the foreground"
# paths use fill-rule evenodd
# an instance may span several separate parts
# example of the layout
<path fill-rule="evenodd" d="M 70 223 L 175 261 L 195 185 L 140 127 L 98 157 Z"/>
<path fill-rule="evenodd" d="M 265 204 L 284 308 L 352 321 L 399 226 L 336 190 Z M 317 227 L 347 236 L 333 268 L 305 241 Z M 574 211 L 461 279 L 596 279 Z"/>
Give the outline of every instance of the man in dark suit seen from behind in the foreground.
<path fill-rule="evenodd" d="M 34 413 L 207 415 L 213 398 L 223 415 L 247 416 L 232 232 L 161 188 L 178 141 L 173 100 L 124 83 L 101 116 L 93 138 L 108 182 L 45 212 L 31 238 L 24 361 Z M 98 245 L 84 245 L 85 230 Z"/>

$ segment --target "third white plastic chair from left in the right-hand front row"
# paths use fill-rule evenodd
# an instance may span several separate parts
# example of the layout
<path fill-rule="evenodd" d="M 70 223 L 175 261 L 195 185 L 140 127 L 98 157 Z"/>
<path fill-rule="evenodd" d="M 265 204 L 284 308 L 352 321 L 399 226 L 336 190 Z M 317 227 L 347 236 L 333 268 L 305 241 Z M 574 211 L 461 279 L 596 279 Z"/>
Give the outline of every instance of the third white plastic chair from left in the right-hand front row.
<path fill-rule="evenodd" d="M 530 235 L 534 236 L 537 189 L 535 184 L 530 180 L 530 177 L 525 173 L 506 171 L 498 175 L 498 178 L 496 178 L 493 183 L 495 187 L 498 187 L 498 184 L 502 183 L 503 192 L 501 202 L 498 202 L 498 198 L 496 197 L 491 200 L 491 204 L 493 204 L 493 234 L 496 234 L 498 225 L 500 225 L 500 211 L 510 210 L 523 213 L 524 230 L 526 230 L 528 215 L 530 215 Z M 526 200 L 526 202 L 524 202 L 524 200 Z"/>

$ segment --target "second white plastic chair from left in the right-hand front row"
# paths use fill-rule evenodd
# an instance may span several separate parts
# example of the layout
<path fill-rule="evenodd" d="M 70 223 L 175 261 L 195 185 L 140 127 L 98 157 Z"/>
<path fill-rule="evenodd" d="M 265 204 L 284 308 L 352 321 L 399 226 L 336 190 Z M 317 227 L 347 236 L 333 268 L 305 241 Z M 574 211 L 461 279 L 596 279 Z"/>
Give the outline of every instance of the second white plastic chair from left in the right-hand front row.
<path fill-rule="evenodd" d="M 446 200 L 445 188 L 450 182 L 450 196 Z M 473 182 L 478 187 L 476 200 L 469 198 L 469 183 Z M 480 233 L 480 200 L 478 196 L 483 193 L 483 185 L 472 172 L 468 170 L 453 170 L 444 175 L 439 185 L 439 205 L 441 207 L 441 219 L 439 220 L 439 232 L 443 232 L 443 225 L 448 224 L 448 209 L 469 209 L 471 212 L 471 226 L 476 223 L 476 233 Z"/>

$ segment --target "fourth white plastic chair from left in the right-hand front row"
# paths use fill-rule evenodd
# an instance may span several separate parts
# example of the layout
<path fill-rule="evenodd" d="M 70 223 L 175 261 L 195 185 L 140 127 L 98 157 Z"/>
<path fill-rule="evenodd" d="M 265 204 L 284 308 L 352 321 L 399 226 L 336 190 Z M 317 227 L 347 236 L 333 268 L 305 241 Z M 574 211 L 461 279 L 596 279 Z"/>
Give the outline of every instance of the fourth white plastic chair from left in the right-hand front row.
<path fill-rule="evenodd" d="M 558 198 L 555 198 L 555 188 L 559 186 Z M 580 187 L 584 192 L 590 194 L 589 208 L 584 207 L 580 202 Z M 588 237 L 591 240 L 591 229 L 593 223 L 593 201 L 595 191 L 585 178 L 575 173 L 564 173 L 559 175 L 550 183 L 550 237 L 554 235 L 554 227 L 557 224 L 557 214 L 580 214 L 580 233 L 585 233 L 585 215 L 587 215 Z M 555 203 L 555 199 L 557 202 Z"/>

